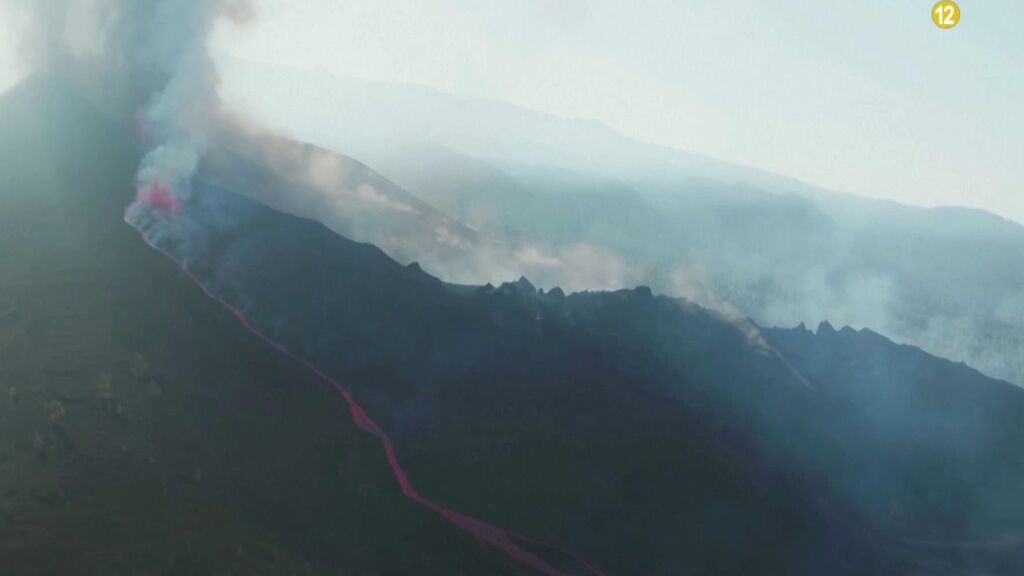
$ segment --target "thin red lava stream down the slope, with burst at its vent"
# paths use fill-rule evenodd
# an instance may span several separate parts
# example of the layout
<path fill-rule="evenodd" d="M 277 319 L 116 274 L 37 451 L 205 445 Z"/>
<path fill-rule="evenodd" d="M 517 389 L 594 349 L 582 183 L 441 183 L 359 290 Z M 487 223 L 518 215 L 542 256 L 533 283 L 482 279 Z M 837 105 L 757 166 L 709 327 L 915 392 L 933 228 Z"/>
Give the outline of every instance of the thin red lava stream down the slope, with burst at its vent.
<path fill-rule="evenodd" d="M 170 191 L 168 191 L 166 188 L 160 184 L 154 184 L 153 187 L 151 187 L 145 193 L 143 193 L 143 195 L 140 196 L 139 200 L 150 206 L 168 211 L 172 214 L 177 214 L 177 212 L 181 208 L 180 201 L 178 201 L 178 199 Z M 131 222 L 127 219 L 127 216 L 125 217 L 125 222 L 128 223 L 128 225 L 132 225 Z M 132 228 L 135 227 L 132 225 Z M 517 541 L 534 544 L 541 548 L 556 551 L 574 561 L 577 564 L 579 564 L 580 567 L 585 569 L 588 573 L 594 576 L 605 576 L 603 572 L 595 568 L 593 565 L 588 563 L 580 556 L 569 550 L 553 546 L 550 544 L 546 544 L 534 540 L 531 538 L 521 536 L 513 532 L 509 532 L 502 528 L 498 528 L 497 526 L 489 525 L 485 522 L 474 519 L 472 517 L 459 513 L 454 510 L 450 510 L 447 508 L 444 508 L 440 504 L 437 504 L 436 502 L 426 498 L 425 496 L 420 495 L 420 493 L 417 492 L 416 489 L 413 487 L 412 482 L 406 475 L 406 470 L 401 467 L 401 464 L 398 462 L 398 456 L 395 452 L 394 445 L 391 443 L 391 440 L 387 437 L 386 434 L 384 434 L 384 430 L 379 425 L 377 425 L 377 423 L 367 414 L 367 411 L 362 408 L 362 406 L 360 406 L 355 401 L 355 399 L 352 397 L 352 394 L 348 390 L 348 388 L 344 387 L 339 382 L 328 376 L 327 373 L 325 373 L 323 370 L 314 366 L 312 363 L 308 362 L 303 358 L 300 358 L 298 355 L 292 353 L 284 345 L 278 343 L 276 341 L 270 339 L 268 336 L 260 332 L 255 326 L 253 326 L 252 322 L 249 321 L 249 319 L 242 311 L 238 310 L 237 307 L 225 301 L 223 298 L 211 292 L 210 289 L 207 288 L 203 284 L 203 282 L 200 281 L 198 277 L 196 277 L 196 275 L 194 275 L 190 271 L 188 271 L 188 269 L 184 264 L 178 262 L 177 259 L 174 258 L 174 256 L 170 252 L 160 248 L 159 246 L 156 246 L 153 242 L 151 242 L 148 236 L 144 231 L 139 230 L 138 228 L 135 228 L 135 230 L 138 231 L 138 233 L 142 236 L 142 240 L 150 247 L 154 248 L 161 254 L 167 256 L 175 263 L 177 263 L 180 266 L 181 271 L 184 273 L 184 275 L 193 283 L 195 283 L 200 288 L 200 290 L 203 291 L 204 294 L 206 294 L 211 299 L 219 302 L 224 307 L 226 307 L 234 316 L 234 318 L 238 319 L 239 323 L 242 324 L 242 326 L 244 326 L 247 330 L 255 334 L 257 337 L 259 337 L 261 340 L 272 346 L 278 352 L 284 354 L 285 356 L 289 357 L 295 362 L 298 362 L 302 366 L 306 367 L 319 379 L 331 384 L 348 404 L 349 412 L 351 414 L 352 421 L 355 423 L 355 425 L 358 426 L 364 431 L 377 437 L 381 441 L 381 444 L 384 447 L 385 455 L 387 456 L 388 464 L 391 466 L 391 470 L 394 474 L 395 480 L 397 480 L 398 482 L 398 487 L 401 489 L 401 493 L 407 498 L 444 517 L 454 526 L 458 527 L 461 530 L 466 531 L 471 536 L 473 536 L 473 538 L 476 539 L 476 541 L 479 542 L 480 544 L 494 546 L 500 549 L 502 552 L 504 552 L 506 556 L 508 556 L 515 562 L 518 562 L 519 564 L 526 566 L 547 576 L 569 576 L 569 575 L 552 566 L 549 562 L 541 558 L 541 556 L 539 556 L 538 553 L 531 552 L 525 547 L 517 544 L 516 543 Z"/>

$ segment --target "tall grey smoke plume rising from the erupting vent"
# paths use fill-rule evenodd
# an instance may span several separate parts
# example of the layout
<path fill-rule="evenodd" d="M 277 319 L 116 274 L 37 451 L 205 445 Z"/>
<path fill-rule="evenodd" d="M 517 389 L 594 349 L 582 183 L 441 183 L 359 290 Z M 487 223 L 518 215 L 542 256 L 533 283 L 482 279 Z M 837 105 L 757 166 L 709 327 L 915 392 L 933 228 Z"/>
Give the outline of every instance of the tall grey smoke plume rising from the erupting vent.
<path fill-rule="evenodd" d="M 4 0 L 0 0 L 4 1 Z M 207 38 L 252 17 L 248 0 L 5 0 L 31 73 L 71 81 L 134 125 L 144 153 L 129 219 L 173 214 L 221 114 Z"/>

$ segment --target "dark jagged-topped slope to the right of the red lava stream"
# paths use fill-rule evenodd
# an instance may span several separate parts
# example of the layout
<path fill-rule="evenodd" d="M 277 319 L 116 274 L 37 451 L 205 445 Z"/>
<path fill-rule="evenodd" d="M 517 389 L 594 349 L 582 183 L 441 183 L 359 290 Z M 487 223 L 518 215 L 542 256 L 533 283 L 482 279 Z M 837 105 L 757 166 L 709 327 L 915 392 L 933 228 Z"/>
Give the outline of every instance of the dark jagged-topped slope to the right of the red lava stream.
<path fill-rule="evenodd" d="M 916 425 L 893 427 L 822 384 L 847 381 L 843 366 L 814 371 L 813 352 L 686 301 L 446 285 L 317 222 L 196 187 L 180 212 L 145 210 L 134 224 L 345 382 L 442 506 L 610 574 L 1022 566 L 1013 541 L 956 544 L 1002 541 L 1024 520 L 1008 491 L 1024 478 L 1012 448 L 1024 393 L 1006 382 L 882 339 L 856 360 L 868 374 L 900 368 L 884 381 L 905 402 L 887 416 Z M 191 230 L 203 242 L 180 233 Z M 933 379 L 959 400 L 936 405 L 921 392 Z M 951 440 L 962 449 L 945 453 Z M 916 497 L 930 471 L 948 480 Z"/>

